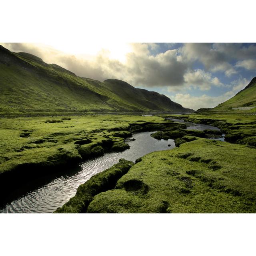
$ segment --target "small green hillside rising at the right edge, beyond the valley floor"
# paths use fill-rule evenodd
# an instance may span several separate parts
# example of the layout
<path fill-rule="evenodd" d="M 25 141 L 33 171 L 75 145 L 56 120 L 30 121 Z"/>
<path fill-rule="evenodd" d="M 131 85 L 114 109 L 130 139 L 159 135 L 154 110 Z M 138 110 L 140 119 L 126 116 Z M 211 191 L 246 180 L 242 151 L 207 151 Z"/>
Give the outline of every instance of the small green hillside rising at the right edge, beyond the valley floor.
<path fill-rule="evenodd" d="M 215 108 L 200 108 L 196 112 L 256 112 L 256 77 L 243 90 Z"/>

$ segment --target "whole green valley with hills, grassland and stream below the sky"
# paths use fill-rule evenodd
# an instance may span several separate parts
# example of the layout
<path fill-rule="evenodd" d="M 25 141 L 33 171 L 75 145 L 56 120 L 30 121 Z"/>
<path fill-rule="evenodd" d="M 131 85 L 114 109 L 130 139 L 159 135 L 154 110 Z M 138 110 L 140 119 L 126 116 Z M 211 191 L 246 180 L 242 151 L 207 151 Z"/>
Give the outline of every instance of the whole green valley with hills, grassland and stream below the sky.
<path fill-rule="evenodd" d="M 256 212 L 256 78 L 194 111 L 0 46 L 0 91 L 1 212 Z"/>

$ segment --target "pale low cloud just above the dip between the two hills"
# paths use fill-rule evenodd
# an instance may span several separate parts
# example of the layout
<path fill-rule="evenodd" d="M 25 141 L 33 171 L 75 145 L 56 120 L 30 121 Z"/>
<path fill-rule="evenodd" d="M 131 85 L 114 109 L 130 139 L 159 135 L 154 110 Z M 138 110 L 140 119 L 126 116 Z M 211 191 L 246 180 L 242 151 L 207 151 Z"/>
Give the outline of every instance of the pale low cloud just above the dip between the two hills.
<path fill-rule="evenodd" d="M 244 89 L 248 83 L 249 80 L 246 78 L 240 78 L 236 81 L 233 81 L 230 84 L 232 89 L 222 94 L 221 96 L 214 97 L 206 94 L 203 94 L 202 96 L 192 96 L 191 94 L 177 93 L 174 97 L 170 98 L 172 98 L 172 100 L 175 102 L 179 102 L 182 106 L 186 108 L 192 108 L 194 110 L 198 110 L 199 108 L 214 108 L 215 106 L 218 106 L 218 104 L 232 98 L 234 95 L 236 95 L 236 93 Z"/>

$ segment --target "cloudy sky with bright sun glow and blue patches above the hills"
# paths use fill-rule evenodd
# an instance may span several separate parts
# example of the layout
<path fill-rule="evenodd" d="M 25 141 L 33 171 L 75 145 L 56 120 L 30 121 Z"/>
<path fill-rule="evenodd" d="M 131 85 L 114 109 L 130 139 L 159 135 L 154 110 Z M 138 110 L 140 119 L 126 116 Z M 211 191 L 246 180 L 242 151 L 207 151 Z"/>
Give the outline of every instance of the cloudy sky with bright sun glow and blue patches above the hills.
<path fill-rule="evenodd" d="M 120 79 L 186 108 L 213 108 L 256 76 L 254 43 L 2 43 L 77 76 Z"/>

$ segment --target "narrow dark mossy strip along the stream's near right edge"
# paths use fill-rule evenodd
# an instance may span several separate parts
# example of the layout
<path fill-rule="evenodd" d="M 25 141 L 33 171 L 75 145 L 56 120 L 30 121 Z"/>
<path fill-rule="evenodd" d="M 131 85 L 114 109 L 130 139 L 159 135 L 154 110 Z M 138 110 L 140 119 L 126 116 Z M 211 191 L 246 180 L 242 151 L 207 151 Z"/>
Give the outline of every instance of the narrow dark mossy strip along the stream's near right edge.
<path fill-rule="evenodd" d="M 86 212 L 93 197 L 100 192 L 110 190 L 116 186 L 117 180 L 128 172 L 133 162 L 120 159 L 118 164 L 100 172 L 80 185 L 76 195 L 72 197 L 55 213 L 79 213 Z"/>

